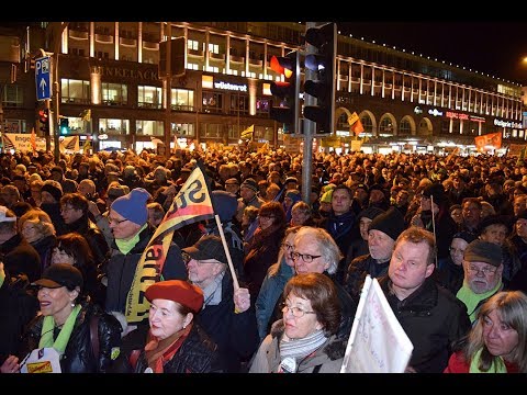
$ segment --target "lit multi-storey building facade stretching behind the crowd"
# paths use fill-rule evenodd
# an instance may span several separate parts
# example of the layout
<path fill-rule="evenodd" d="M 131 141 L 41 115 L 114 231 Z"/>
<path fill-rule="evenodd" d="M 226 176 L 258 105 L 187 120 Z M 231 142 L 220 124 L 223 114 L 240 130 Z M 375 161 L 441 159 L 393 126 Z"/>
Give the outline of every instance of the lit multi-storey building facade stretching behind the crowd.
<path fill-rule="evenodd" d="M 96 149 L 137 151 L 155 139 L 237 145 L 253 125 L 255 140 L 282 145 L 281 125 L 269 117 L 270 83 L 280 78 L 269 61 L 301 49 L 304 32 L 292 22 L 69 22 L 3 30 L 2 132 L 34 127 L 40 134 L 45 103 L 35 99 L 31 59 L 42 48 L 58 52 L 54 119 L 67 119 L 64 133 L 78 134 L 81 146 L 86 139 Z M 169 63 L 160 43 L 168 35 L 184 40 L 186 50 L 170 57 L 180 59 L 184 75 L 164 78 Z M 365 127 L 358 138 L 363 150 L 468 150 L 475 136 L 497 132 L 504 142 L 527 138 L 517 83 L 344 35 L 337 76 L 336 135 L 344 149 L 356 139 L 348 123 L 354 112 Z"/>

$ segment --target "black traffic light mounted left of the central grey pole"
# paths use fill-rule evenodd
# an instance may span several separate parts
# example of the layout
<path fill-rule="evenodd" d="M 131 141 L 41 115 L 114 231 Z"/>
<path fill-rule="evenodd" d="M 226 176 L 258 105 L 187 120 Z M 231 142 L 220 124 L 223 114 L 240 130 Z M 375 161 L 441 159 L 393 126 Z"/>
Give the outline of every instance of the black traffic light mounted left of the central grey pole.
<path fill-rule="evenodd" d="M 283 124 L 283 133 L 299 132 L 300 58 L 296 50 L 285 56 L 272 56 L 271 69 L 284 77 L 284 81 L 271 83 L 271 93 L 280 99 L 269 115 Z"/>

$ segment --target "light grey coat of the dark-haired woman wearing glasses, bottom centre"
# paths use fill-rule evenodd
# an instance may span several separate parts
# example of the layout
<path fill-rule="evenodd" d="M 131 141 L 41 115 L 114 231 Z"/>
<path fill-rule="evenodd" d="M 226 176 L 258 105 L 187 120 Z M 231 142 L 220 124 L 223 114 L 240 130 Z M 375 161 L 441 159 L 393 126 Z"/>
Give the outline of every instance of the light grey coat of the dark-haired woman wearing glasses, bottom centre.
<path fill-rule="evenodd" d="M 278 373 L 280 339 L 284 332 L 283 320 L 277 321 L 261 342 L 249 368 L 249 373 Z M 339 373 L 346 352 L 347 339 L 332 336 L 321 348 L 296 361 L 296 373 Z"/>

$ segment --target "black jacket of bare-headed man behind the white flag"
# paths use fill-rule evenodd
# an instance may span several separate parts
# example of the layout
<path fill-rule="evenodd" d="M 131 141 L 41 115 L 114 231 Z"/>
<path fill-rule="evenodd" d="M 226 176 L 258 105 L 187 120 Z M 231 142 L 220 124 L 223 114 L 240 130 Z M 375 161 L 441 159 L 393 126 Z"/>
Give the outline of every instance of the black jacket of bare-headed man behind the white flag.
<path fill-rule="evenodd" d="M 408 366 L 417 373 L 441 373 L 451 345 L 471 328 L 464 304 L 430 276 L 404 301 L 390 291 L 388 275 L 379 279 L 379 284 L 414 346 Z"/>

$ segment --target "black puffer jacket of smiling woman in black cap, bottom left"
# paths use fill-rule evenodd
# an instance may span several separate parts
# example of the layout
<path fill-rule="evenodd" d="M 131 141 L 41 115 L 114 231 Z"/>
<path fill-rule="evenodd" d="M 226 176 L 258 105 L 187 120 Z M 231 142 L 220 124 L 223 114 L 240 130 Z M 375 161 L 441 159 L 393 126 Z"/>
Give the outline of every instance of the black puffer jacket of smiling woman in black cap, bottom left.
<path fill-rule="evenodd" d="M 90 323 L 92 317 L 98 317 L 99 357 L 93 354 L 90 338 Z M 38 348 L 44 316 L 38 315 L 29 325 L 23 337 L 23 347 L 19 352 L 22 361 L 31 351 Z M 60 359 L 63 373 L 105 373 L 112 363 L 112 353 L 116 358 L 121 347 L 122 327 L 111 314 L 104 313 L 91 302 L 82 304 L 82 308 L 75 321 L 74 330 L 69 337 L 66 350 Z M 60 329 L 55 328 L 54 339 Z"/>

